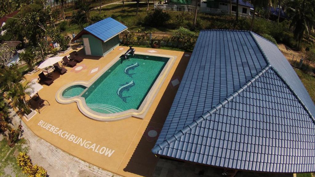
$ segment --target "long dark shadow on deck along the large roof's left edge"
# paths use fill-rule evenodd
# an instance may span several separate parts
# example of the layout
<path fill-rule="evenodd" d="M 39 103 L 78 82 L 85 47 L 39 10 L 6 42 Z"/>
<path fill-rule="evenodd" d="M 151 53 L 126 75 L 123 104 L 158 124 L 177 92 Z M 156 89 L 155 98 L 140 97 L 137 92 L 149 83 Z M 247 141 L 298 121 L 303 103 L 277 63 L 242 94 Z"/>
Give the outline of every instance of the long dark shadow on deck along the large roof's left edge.
<path fill-rule="evenodd" d="M 152 176 L 155 166 L 157 164 L 158 158 L 152 154 L 151 149 L 154 147 L 158 135 L 163 127 L 165 119 L 169 113 L 169 109 L 175 98 L 175 94 L 179 87 L 179 84 L 173 86 L 171 81 L 181 78 L 184 75 L 186 66 L 188 64 L 189 58 L 185 54 L 191 55 L 191 53 L 184 53 L 176 70 L 172 76 L 172 79 L 168 83 L 168 86 L 155 109 L 150 122 L 148 123 L 146 130 L 143 132 L 141 140 L 139 141 L 131 159 L 129 160 L 127 166 L 123 169 L 126 172 L 138 174 L 141 176 Z M 150 134 L 150 130 L 155 130 L 157 134 Z M 150 136 L 151 135 L 151 136 Z"/>

